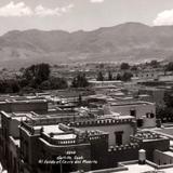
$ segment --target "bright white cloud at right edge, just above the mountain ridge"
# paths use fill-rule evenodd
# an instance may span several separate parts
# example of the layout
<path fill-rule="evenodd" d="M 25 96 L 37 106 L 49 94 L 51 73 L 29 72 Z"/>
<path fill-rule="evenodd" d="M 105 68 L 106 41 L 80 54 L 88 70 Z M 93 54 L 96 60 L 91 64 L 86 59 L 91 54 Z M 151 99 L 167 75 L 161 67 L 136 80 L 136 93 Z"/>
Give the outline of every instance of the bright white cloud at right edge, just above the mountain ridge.
<path fill-rule="evenodd" d="M 159 13 L 154 21 L 154 25 L 160 26 L 160 25 L 173 25 L 173 9 L 172 10 L 165 10 L 161 13 Z"/>

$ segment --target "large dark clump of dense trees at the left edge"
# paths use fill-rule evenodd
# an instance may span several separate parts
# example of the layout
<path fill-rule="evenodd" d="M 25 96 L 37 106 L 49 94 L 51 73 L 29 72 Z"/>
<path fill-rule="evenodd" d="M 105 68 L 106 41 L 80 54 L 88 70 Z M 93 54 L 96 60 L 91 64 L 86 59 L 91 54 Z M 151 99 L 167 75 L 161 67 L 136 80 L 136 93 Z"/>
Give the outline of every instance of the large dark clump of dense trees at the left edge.
<path fill-rule="evenodd" d="M 64 78 L 50 77 L 49 64 L 31 65 L 21 72 L 23 75 L 19 79 L 0 80 L 0 93 L 30 93 L 68 88 Z"/>

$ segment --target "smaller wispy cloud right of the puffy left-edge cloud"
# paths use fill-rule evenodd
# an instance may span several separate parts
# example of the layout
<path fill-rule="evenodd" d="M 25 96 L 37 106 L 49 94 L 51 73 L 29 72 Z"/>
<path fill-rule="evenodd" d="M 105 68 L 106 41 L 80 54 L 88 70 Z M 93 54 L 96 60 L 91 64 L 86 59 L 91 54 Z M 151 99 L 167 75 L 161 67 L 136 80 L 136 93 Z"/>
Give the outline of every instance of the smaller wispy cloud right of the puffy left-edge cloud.
<path fill-rule="evenodd" d="M 49 9 L 40 4 L 36 6 L 35 14 L 38 16 L 42 16 L 42 17 L 43 16 L 59 16 L 63 13 L 69 12 L 69 10 L 72 8 L 74 8 L 74 4 L 69 4 L 67 6 L 62 6 L 62 8 Z"/>

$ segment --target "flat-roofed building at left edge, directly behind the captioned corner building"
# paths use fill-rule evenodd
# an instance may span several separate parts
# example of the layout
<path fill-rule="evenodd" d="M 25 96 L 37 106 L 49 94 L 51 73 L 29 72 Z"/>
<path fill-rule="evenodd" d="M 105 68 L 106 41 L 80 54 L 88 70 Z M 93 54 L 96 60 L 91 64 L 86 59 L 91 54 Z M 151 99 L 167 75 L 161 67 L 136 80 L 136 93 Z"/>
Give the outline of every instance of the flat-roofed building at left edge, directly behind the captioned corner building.
<path fill-rule="evenodd" d="M 43 101 L 43 104 L 45 102 Z M 39 111 L 39 114 L 36 114 L 35 111 L 26 111 L 26 110 L 28 110 L 27 107 L 25 111 L 16 111 L 16 112 L 1 111 L 0 112 L 1 124 L 2 124 L 0 129 L 0 152 L 1 152 L 0 158 L 3 164 L 6 165 L 8 168 L 13 168 L 11 165 L 14 164 L 15 165 L 14 170 L 17 170 L 19 167 L 19 163 L 17 161 L 18 160 L 17 158 L 19 157 L 17 152 L 21 147 L 21 136 L 19 136 L 18 127 L 21 125 L 22 121 L 30 120 L 31 122 L 37 121 L 38 123 L 40 122 L 44 124 L 46 123 L 58 124 L 61 122 L 67 123 L 70 121 L 77 121 L 79 119 L 84 121 L 90 118 L 88 117 L 88 115 L 81 116 L 81 115 L 78 115 L 78 112 L 76 111 L 71 112 L 69 110 L 61 110 L 61 109 L 46 110 L 45 112 L 44 107 L 43 107 L 42 114 L 41 111 Z M 40 110 L 41 110 L 41 107 L 40 107 Z M 15 156 L 14 157 L 15 159 L 14 158 L 12 159 L 13 161 L 11 161 L 10 159 L 12 156 Z"/>

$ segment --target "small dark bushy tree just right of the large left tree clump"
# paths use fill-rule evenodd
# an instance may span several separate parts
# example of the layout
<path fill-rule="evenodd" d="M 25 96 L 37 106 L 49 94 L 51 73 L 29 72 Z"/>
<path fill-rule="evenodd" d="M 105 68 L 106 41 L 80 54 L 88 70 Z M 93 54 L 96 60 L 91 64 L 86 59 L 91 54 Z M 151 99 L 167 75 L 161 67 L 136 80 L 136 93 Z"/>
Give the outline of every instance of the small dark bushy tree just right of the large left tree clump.
<path fill-rule="evenodd" d="M 89 82 L 88 82 L 88 79 L 85 78 L 85 74 L 78 74 L 77 77 L 72 79 L 71 86 L 72 88 L 89 86 Z"/>

